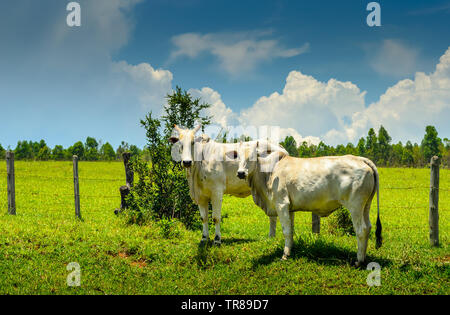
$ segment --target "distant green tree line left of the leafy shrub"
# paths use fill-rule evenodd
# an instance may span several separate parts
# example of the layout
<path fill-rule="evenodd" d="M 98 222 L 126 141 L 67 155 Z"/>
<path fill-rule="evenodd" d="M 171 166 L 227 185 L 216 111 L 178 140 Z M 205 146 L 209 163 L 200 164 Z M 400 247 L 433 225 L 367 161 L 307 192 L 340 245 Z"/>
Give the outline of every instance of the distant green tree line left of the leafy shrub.
<path fill-rule="evenodd" d="M 87 137 L 83 143 L 78 141 L 68 148 L 62 145 L 55 145 L 51 149 L 44 140 L 37 141 L 19 141 L 14 150 L 12 150 L 16 160 L 32 161 L 69 161 L 73 155 L 77 155 L 83 161 L 114 161 L 122 159 L 124 152 L 131 152 L 133 156 L 148 156 L 148 150 L 139 149 L 135 145 L 130 145 L 125 141 L 114 150 L 113 146 L 106 142 L 97 141 L 93 137 Z M 6 149 L 0 144 L 0 158 L 4 159 Z"/>

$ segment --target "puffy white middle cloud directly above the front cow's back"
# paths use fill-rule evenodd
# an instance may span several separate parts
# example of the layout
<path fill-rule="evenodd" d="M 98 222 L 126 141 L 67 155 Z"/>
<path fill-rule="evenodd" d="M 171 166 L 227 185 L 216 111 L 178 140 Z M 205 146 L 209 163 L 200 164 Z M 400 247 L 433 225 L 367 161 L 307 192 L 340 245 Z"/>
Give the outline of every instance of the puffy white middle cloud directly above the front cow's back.
<path fill-rule="evenodd" d="M 351 82 L 320 82 L 298 71 L 289 73 L 283 92 L 261 97 L 241 113 L 254 125 L 279 125 L 324 137 L 333 126 L 343 130 L 355 111 L 364 109 L 365 92 Z"/>

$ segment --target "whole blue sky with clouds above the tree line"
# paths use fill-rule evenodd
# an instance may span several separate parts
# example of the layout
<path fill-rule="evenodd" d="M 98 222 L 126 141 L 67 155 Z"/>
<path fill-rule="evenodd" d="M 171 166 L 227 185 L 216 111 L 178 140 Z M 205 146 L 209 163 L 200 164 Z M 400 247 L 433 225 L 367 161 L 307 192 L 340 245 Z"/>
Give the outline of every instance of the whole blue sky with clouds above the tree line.
<path fill-rule="evenodd" d="M 0 4 L 0 143 L 142 146 L 139 120 L 180 85 L 221 125 L 355 142 L 383 124 L 450 137 L 450 1 L 78 1 Z"/>

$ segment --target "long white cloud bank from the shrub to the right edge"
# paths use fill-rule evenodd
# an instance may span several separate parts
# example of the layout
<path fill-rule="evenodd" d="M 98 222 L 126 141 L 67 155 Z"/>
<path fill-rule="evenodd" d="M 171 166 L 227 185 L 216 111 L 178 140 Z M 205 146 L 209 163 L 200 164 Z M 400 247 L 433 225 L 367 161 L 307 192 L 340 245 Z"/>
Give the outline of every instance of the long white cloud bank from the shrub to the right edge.
<path fill-rule="evenodd" d="M 366 107 L 365 92 L 351 82 L 320 82 L 292 71 L 282 93 L 258 99 L 239 115 L 227 108 L 211 88 L 198 91 L 213 105 L 214 122 L 242 126 L 279 126 L 281 138 L 294 137 L 317 144 L 356 143 L 369 128 L 383 125 L 394 141 L 422 139 L 425 126 L 434 125 L 442 137 L 450 134 L 450 47 L 431 74 L 418 72 L 390 87 L 377 102 Z M 215 109 L 217 108 L 217 110 Z M 302 136 L 306 135 L 306 136 Z"/>

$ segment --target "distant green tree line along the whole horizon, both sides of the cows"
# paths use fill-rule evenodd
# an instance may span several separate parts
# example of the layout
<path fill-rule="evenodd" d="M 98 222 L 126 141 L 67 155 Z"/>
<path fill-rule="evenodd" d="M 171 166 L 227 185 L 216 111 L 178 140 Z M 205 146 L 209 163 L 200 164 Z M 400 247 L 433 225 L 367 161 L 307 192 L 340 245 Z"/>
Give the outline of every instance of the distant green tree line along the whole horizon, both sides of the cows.
<path fill-rule="evenodd" d="M 249 141 L 249 137 L 234 139 Z M 219 141 L 226 142 L 226 134 Z M 388 131 L 381 126 L 378 134 L 373 128 L 369 129 L 367 137 L 359 139 L 356 146 L 353 143 L 337 146 L 327 145 L 320 142 L 318 145 L 303 142 L 298 145 L 292 136 L 288 136 L 280 144 L 289 152 L 291 156 L 297 157 L 319 157 L 336 155 L 358 155 L 364 156 L 375 162 L 378 166 L 386 167 L 424 167 L 434 155 L 442 159 L 443 167 L 450 167 L 450 140 L 441 139 L 434 126 L 425 128 L 425 135 L 420 144 L 401 141 L 392 144 L 392 138 Z M 72 160 L 73 155 L 77 155 L 84 161 L 114 161 L 122 159 L 123 152 L 131 152 L 133 156 L 140 156 L 148 161 L 151 158 L 148 146 L 144 149 L 136 145 L 129 145 L 122 141 L 119 147 L 114 150 L 113 146 L 106 142 L 101 144 L 93 137 L 87 137 L 83 143 L 76 142 L 68 148 L 56 145 L 50 149 L 44 140 L 39 142 L 19 141 L 13 150 L 16 160 L 37 160 L 37 161 L 65 161 Z M 0 144 L 0 158 L 4 159 L 6 150 Z"/>

